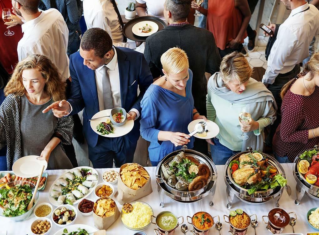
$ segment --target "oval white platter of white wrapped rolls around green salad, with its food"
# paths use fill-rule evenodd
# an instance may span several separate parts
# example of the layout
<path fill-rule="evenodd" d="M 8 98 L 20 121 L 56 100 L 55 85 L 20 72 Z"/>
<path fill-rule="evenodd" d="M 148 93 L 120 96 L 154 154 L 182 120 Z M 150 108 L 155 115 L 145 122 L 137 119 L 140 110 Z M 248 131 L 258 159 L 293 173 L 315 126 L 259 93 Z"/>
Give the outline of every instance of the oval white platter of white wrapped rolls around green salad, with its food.
<path fill-rule="evenodd" d="M 67 170 L 51 185 L 49 201 L 56 207 L 75 205 L 94 191 L 98 181 L 99 174 L 92 167 L 79 166 Z"/>

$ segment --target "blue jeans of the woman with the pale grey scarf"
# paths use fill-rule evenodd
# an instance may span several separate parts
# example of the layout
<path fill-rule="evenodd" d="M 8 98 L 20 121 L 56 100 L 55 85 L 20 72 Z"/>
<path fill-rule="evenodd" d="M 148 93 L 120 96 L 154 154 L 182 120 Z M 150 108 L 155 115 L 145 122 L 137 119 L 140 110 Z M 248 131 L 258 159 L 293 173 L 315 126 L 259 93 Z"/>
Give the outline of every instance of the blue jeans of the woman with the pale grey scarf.
<path fill-rule="evenodd" d="M 240 151 L 233 151 L 222 145 L 218 139 L 212 139 L 215 145 L 211 145 L 211 157 L 215 165 L 225 165 L 227 160 Z"/>

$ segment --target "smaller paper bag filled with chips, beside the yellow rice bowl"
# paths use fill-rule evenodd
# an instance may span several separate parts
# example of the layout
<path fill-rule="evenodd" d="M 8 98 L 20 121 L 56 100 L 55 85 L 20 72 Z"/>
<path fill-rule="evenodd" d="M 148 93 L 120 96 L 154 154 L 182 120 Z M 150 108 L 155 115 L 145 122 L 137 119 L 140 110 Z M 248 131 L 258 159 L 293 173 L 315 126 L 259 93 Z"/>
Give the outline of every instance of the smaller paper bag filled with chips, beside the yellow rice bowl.
<path fill-rule="evenodd" d="M 93 207 L 94 226 L 107 230 L 120 216 L 115 201 L 110 197 L 99 198 Z"/>

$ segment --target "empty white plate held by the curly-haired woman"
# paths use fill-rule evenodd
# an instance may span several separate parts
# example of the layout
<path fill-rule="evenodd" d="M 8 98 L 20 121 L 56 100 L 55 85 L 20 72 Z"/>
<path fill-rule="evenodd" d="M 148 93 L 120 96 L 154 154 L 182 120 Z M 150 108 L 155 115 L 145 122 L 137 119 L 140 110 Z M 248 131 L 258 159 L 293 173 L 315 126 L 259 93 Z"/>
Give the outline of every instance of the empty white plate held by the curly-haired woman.
<path fill-rule="evenodd" d="M 15 175 L 22 178 L 36 177 L 39 175 L 41 166 L 44 165 L 43 171 L 48 167 L 48 163 L 45 160 L 39 160 L 40 156 L 30 155 L 19 158 L 12 165 L 12 171 Z"/>

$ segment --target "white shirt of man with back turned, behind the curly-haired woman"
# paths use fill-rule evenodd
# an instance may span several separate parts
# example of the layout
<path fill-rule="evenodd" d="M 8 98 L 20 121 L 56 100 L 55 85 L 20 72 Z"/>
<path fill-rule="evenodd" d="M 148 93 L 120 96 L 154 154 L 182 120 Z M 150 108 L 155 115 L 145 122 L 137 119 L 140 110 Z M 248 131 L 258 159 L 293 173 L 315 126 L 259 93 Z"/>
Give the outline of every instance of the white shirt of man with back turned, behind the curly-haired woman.
<path fill-rule="evenodd" d="M 29 55 L 48 56 L 67 80 L 70 77 L 68 49 L 69 30 L 56 9 L 42 11 L 36 19 L 21 25 L 23 37 L 18 43 L 19 61 Z"/>

